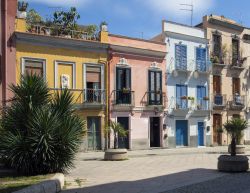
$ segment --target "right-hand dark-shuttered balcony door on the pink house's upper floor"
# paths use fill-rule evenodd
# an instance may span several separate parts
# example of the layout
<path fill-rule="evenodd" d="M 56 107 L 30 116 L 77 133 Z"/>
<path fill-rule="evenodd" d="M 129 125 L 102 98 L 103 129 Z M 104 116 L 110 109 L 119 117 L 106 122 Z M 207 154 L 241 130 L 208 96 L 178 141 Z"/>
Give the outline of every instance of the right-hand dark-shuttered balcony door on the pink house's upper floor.
<path fill-rule="evenodd" d="M 162 72 L 149 71 L 149 105 L 162 105 Z"/>

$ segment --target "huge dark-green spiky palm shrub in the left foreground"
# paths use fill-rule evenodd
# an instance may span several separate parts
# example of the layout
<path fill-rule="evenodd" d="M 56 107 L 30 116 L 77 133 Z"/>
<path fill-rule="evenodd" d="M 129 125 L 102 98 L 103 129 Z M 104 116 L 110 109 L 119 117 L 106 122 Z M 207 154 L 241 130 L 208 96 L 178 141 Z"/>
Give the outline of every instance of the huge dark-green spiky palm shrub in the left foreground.
<path fill-rule="evenodd" d="M 27 75 L 1 119 L 0 157 L 26 175 L 66 172 L 85 131 L 68 90 L 50 94 L 43 78 Z"/>

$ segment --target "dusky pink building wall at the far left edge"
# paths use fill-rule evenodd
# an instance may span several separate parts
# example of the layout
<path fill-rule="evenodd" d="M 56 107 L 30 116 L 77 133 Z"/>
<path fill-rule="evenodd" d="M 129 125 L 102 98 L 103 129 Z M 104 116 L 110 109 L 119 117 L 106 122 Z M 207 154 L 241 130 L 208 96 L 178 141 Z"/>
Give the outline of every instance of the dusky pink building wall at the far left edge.
<path fill-rule="evenodd" d="M 17 0 L 0 1 L 0 101 L 4 105 L 11 96 L 8 86 L 16 82 L 16 49 L 14 44 Z"/>

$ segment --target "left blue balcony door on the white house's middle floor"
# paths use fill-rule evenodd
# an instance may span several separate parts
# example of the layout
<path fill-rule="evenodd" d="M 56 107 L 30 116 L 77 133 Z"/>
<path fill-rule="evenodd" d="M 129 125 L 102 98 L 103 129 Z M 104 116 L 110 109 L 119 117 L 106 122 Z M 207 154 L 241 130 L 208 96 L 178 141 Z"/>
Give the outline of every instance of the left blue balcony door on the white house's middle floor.
<path fill-rule="evenodd" d="M 176 85 L 176 106 L 177 106 L 177 109 L 186 109 L 187 102 L 188 102 L 188 100 L 187 100 L 187 86 L 177 84 Z"/>

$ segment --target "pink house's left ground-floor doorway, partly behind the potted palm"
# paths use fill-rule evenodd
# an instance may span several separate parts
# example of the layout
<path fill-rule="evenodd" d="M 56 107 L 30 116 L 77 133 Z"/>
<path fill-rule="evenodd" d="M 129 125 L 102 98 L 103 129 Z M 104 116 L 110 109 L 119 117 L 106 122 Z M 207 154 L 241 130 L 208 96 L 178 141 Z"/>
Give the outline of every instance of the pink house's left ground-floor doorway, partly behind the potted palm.
<path fill-rule="evenodd" d="M 118 135 L 118 148 L 129 149 L 129 118 L 128 117 L 117 117 L 117 122 L 120 123 L 123 128 L 127 131 L 127 136 L 121 137 Z"/>

